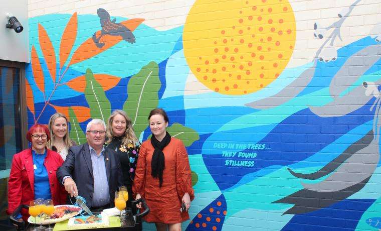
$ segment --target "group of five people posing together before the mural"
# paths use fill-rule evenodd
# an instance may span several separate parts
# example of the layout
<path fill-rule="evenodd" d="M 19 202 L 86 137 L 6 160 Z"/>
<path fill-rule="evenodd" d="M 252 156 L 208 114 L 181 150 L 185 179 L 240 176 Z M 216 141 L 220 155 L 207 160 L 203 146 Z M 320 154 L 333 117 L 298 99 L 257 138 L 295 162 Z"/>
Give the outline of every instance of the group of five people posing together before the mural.
<path fill-rule="evenodd" d="M 69 203 L 69 196 L 82 196 L 90 209 L 114 207 L 114 194 L 126 186 L 132 198 L 144 198 L 157 230 L 181 230 L 189 219 L 194 199 L 192 176 L 183 143 L 166 131 L 169 120 L 161 108 L 148 117 L 152 136 L 140 144 L 131 120 L 123 110 L 114 110 L 107 126 L 99 119 L 86 127 L 87 143 L 77 146 L 69 137 L 68 120 L 55 113 L 48 127 L 33 125 L 27 139 L 31 148 L 14 155 L 8 181 L 8 210 L 36 198 L 52 199 L 55 205 Z M 180 211 L 181 205 L 185 211 Z M 137 205 L 141 208 L 141 205 Z M 20 218 L 27 220 L 28 210 Z"/>

